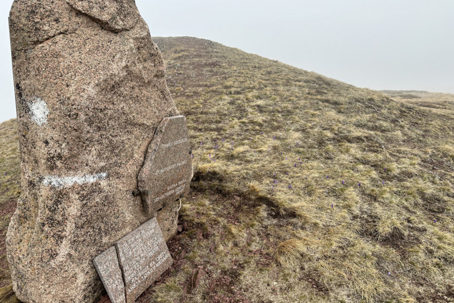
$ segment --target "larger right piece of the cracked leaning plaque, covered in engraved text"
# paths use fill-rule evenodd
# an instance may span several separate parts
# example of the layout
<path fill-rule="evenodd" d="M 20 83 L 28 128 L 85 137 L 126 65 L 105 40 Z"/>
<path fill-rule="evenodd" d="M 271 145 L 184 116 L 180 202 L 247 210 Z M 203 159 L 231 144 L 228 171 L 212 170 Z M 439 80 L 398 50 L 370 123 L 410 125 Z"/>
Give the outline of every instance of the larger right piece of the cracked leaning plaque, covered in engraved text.
<path fill-rule="evenodd" d="M 156 218 L 115 243 L 126 302 L 132 303 L 173 263 Z"/>

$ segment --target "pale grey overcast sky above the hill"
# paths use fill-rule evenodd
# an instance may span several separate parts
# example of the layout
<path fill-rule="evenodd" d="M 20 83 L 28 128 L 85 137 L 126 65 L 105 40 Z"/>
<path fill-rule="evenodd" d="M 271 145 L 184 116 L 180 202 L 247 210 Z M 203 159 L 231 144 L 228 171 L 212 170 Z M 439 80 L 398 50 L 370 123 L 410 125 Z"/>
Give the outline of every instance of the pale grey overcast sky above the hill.
<path fill-rule="evenodd" d="M 0 121 L 16 116 L 0 0 Z M 360 87 L 454 93 L 454 0 L 136 0 L 152 36 L 195 36 Z"/>

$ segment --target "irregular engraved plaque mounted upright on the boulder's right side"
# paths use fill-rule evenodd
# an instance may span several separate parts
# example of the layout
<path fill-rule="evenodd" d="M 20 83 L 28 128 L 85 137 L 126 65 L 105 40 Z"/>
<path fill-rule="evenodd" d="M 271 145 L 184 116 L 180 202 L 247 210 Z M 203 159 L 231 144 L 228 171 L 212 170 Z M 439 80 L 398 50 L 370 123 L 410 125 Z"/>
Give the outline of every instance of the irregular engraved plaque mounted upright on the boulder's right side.
<path fill-rule="evenodd" d="M 148 214 L 189 191 L 193 176 L 185 116 L 164 118 L 148 146 L 138 185 Z"/>

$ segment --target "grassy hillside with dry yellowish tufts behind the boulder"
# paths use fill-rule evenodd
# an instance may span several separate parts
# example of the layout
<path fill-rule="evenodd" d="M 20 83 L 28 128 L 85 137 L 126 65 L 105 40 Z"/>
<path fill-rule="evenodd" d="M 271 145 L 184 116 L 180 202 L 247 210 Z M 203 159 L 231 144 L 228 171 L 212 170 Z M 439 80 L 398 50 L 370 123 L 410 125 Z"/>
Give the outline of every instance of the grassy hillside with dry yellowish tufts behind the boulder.
<path fill-rule="evenodd" d="M 153 39 L 195 175 L 176 262 L 138 302 L 454 301 L 449 111 L 209 40 Z M 4 231 L 15 127 L 1 125 Z"/>

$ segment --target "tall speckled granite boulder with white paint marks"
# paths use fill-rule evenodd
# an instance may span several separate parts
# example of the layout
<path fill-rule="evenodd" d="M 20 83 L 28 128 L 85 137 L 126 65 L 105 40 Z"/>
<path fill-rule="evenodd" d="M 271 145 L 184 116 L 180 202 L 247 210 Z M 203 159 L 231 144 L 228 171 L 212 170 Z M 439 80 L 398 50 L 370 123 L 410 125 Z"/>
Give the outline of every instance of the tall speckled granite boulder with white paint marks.
<path fill-rule="evenodd" d="M 137 176 L 177 116 L 134 0 L 15 0 L 10 34 L 23 193 L 7 234 L 24 302 L 94 302 L 92 260 L 150 219 Z M 178 202 L 157 214 L 175 233 Z"/>

